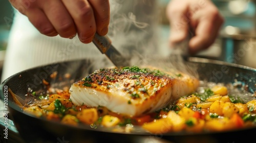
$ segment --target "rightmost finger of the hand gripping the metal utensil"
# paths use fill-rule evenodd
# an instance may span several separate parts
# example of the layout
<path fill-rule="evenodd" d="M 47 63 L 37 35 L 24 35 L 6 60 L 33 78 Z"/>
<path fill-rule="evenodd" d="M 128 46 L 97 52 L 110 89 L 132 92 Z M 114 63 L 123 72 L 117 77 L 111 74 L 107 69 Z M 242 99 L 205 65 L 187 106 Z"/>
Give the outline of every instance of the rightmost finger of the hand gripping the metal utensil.
<path fill-rule="evenodd" d="M 108 33 L 110 22 L 110 4 L 109 0 L 89 0 L 93 7 L 97 33 L 101 36 Z"/>

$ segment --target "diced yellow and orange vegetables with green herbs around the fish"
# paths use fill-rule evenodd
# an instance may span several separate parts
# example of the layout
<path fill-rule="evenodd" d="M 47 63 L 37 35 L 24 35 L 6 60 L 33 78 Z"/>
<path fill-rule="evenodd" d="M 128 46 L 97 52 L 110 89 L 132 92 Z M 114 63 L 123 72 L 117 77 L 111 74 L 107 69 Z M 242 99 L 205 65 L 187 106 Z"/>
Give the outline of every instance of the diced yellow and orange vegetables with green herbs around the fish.
<path fill-rule="evenodd" d="M 112 127 L 113 131 L 132 132 L 138 126 L 155 134 L 224 131 L 252 127 L 256 123 L 256 99 L 245 102 L 230 96 L 227 87 L 219 85 L 181 97 L 175 104 L 159 111 L 136 117 L 124 116 L 101 106 L 75 106 L 68 90 L 47 95 L 33 92 L 28 96 L 36 102 L 24 107 L 27 113 L 73 126 Z"/>

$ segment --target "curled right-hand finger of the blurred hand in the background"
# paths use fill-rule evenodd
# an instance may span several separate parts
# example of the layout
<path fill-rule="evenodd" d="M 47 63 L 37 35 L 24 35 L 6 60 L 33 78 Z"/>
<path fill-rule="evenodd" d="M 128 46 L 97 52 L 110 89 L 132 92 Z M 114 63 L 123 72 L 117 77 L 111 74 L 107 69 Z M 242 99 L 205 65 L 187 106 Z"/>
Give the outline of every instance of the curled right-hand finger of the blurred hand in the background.
<path fill-rule="evenodd" d="M 223 23 L 223 18 L 218 10 L 211 11 L 211 18 L 201 18 L 198 22 L 195 36 L 189 41 L 189 53 L 195 54 L 206 49 L 214 43 L 219 34 L 219 29 Z"/>

